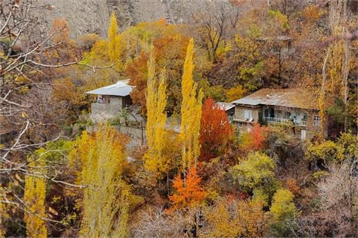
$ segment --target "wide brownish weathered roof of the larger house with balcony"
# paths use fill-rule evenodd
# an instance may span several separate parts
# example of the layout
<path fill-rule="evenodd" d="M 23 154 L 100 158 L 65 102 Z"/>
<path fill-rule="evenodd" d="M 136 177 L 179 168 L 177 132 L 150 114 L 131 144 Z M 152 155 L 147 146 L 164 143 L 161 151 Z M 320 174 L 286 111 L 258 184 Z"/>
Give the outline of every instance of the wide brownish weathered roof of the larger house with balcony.
<path fill-rule="evenodd" d="M 288 108 L 318 110 L 318 96 L 312 90 L 290 88 L 284 90 L 263 89 L 242 99 L 232 101 L 243 105 L 276 105 Z"/>

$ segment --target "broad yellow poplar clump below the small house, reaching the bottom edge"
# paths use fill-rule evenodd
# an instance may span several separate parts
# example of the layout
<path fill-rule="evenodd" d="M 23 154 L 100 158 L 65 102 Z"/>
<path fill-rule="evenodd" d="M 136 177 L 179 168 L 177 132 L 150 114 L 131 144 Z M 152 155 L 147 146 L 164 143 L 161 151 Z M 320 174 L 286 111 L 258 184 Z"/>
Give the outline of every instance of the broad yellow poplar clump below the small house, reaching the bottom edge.
<path fill-rule="evenodd" d="M 128 212 L 135 199 L 121 178 L 126 163 L 126 138 L 110 126 L 99 126 L 94 135 L 86 132 L 78 139 L 70 159 L 80 160 L 78 182 L 83 189 L 83 237 L 125 237 Z"/>

